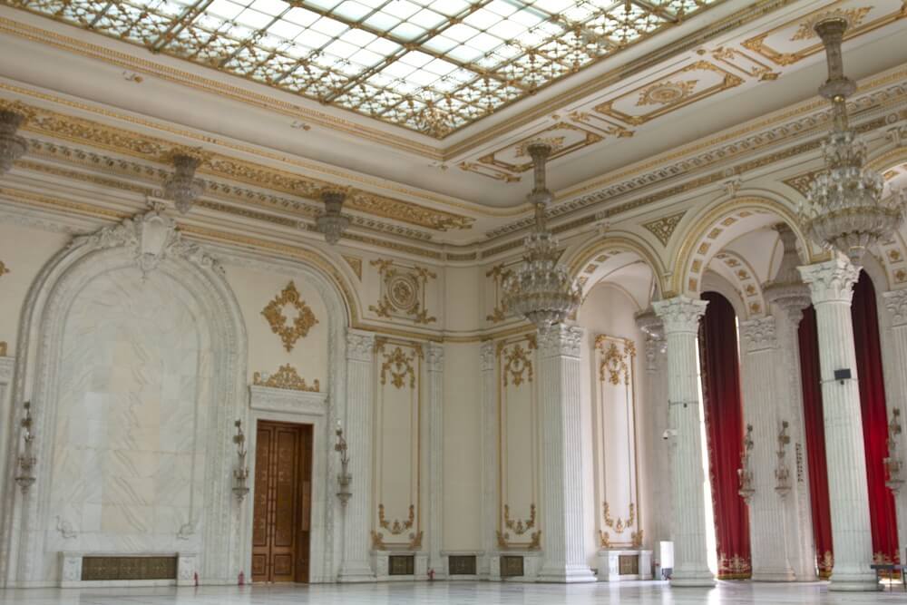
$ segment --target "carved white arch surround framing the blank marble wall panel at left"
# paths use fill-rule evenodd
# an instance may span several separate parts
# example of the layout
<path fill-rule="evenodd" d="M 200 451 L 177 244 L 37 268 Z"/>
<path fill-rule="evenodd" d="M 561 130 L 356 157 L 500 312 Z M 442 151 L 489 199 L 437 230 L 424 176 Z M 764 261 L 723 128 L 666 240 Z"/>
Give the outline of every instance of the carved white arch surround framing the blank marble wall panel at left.
<path fill-rule="evenodd" d="M 8 584 L 54 581 L 56 553 L 48 558 L 47 504 L 51 494 L 50 461 L 54 455 L 54 430 L 61 400 L 63 335 L 66 318 L 83 288 L 94 280 L 122 275 L 123 270 L 154 272 L 174 288 L 174 299 L 190 304 L 199 338 L 210 344 L 210 379 L 197 402 L 210 404 L 206 433 L 205 476 L 229 477 L 229 434 L 233 418 L 246 404 L 247 337 L 239 304 L 218 261 L 195 244 L 182 239 L 172 220 L 157 211 L 101 229 L 73 240 L 54 256 L 35 279 L 25 299 L 16 357 L 15 401 L 33 404 L 37 481 L 28 497 L 6 490 L 0 543 L 9 556 L 2 570 Z M 201 370 L 196 376 L 202 376 Z M 15 412 L 17 414 L 17 411 Z M 10 440 L 7 484 L 15 474 L 18 434 Z M 226 579 L 237 555 L 231 527 L 232 493 L 228 481 L 206 481 L 201 505 L 210 511 L 198 528 L 198 541 L 207 556 L 200 576 Z M 188 532 L 189 530 L 187 530 Z M 193 528 L 191 532 L 195 532 Z M 180 533 L 182 529 L 180 528 Z M 176 534 L 176 532 L 174 532 Z M 190 534 L 191 535 L 191 534 Z M 65 537 L 65 536 L 64 536 Z"/>

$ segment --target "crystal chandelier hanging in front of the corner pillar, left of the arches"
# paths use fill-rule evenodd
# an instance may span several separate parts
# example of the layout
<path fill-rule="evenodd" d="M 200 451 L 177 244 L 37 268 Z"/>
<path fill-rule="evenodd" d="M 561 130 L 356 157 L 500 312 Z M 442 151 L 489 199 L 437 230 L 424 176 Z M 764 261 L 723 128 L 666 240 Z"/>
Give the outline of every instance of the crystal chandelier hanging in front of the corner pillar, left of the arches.
<path fill-rule="evenodd" d="M 558 263 L 558 240 L 545 225 L 551 191 L 545 186 L 545 161 L 551 146 L 534 142 L 527 149 L 535 169 L 535 186 L 529 200 L 535 207 L 535 228 L 523 245 L 523 264 L 503 283 L 503 305 L 544 331 L 560 324 L 580 305 L 580 288 L 567 268 Z"/>

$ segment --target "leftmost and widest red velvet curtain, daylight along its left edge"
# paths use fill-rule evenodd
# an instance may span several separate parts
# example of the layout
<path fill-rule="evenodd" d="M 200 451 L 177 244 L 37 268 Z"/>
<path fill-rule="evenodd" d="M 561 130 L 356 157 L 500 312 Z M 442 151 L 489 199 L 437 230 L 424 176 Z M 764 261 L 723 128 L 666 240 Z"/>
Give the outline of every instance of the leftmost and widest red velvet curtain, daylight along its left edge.
<path fill-rule="evenodd" d="M 702 298 L 708 301 L 708 307 L 699 333 L 699 355 L 718 578 L 743 580 L 751 575 L 751 559 L 749 511 L 737 493 L 737 470 L 743 451 L 743 407 L 736 314 L 727 298 L 720 294 L 707 292 Z"/>

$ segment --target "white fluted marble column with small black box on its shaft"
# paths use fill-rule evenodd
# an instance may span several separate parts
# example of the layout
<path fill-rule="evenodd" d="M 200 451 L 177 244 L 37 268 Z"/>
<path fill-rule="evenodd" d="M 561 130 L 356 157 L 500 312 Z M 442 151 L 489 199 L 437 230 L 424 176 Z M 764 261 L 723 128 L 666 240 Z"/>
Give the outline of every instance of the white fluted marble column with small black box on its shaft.
<path fill-rule="evenodd" d="M 863 420 L 853 346 L 851 299 L 859 269 L 839 257 L 800 268 L 810 288 L 819 334 L 825 459 L 832 514 L 834 571 L 829 590 L 878 590 L 869 520 Z M 850 378 L 835 380 L 835 370 Z"/>

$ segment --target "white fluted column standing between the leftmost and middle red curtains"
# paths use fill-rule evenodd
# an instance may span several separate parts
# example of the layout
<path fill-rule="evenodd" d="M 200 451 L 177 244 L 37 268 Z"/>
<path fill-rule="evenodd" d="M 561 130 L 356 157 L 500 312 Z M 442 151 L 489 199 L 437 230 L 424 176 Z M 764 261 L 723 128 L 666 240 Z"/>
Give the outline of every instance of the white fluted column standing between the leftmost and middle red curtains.
<path fill-rule="evenodd" d="M 753 580 L 792 581 L 784 502 L 775 493 L 775 452 L 782 423 L 775 383 L 775 359 L 779 353 L 775 317 L 740 322 L 740 336 L 744 418 L 753 427 L 750 468 L 756 492 L 748 502 Z M 793 455 L 788 454 L 790 463 Z"/>

